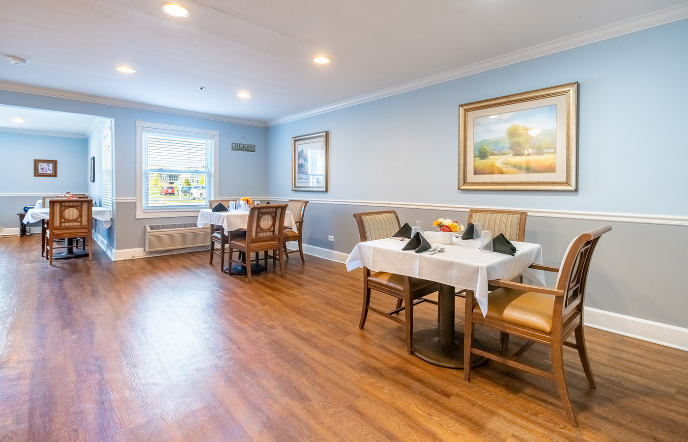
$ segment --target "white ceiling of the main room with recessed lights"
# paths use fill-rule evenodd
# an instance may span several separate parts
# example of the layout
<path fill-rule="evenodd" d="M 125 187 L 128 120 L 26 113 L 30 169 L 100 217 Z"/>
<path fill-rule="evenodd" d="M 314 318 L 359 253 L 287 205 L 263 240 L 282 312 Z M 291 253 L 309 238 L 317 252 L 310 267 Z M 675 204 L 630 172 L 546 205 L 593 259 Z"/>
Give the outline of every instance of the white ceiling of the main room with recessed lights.
<path fill-rule="evenodd" d="M 0 59 L 0 87 L 275 122 L 688 17 L 679 0 L 181 0 L 186 19 L 161 3 L 3 1 L 0 54 L 29 64 Z"/>

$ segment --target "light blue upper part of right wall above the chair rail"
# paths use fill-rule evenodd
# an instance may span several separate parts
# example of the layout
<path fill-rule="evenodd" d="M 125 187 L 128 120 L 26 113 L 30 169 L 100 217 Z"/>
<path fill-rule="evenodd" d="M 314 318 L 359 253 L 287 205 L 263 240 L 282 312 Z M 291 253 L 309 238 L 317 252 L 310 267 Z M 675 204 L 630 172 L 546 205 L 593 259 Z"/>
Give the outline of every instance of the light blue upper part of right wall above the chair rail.
<path fill-rule="evenodd" d="M 303 197 L 291 137 L 330 131 L 327 199 L 687 215 L 687 41 L 680 21 L 270 127 L 268 190 Z M 577 192 L 457 190 L 460 104 L 574 81 Z"/>

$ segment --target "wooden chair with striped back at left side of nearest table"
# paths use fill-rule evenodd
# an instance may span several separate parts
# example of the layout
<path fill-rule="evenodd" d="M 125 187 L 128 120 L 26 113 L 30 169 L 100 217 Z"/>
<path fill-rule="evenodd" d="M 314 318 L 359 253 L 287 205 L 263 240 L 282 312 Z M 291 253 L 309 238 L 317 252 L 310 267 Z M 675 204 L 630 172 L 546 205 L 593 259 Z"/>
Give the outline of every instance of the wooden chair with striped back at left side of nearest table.
<path fill-rule="evenodd" d="M 361 242 L 389 238 L 400 228 L 399 217 L 394 210 L 354 213 L 354 219 L 358 224 Z M 399 248 L 402 245 L 399 243 Z M 363 329 L 368 311 L 373 311 L 404 325 L 406 328 L 406 350 L 411 355 L 413 353 L 413 307 L 420 302 L 431 302 L 437 305 L 436 301 L 425 299 L 423 296 L 432 294 L 439 289 L 440 285 L 433 281 L 388 272 L 370 272 L 367 267 L 363 267 L 363 307 L 361 308 L 361 322 L 358 323 L 358 328 Z M 372 290 L 397 298 L 396 309 L 383 311 L 370 305 Z M 404 320 L 400 319 L 397 314 L 402 310 L 404 311 Z"/>

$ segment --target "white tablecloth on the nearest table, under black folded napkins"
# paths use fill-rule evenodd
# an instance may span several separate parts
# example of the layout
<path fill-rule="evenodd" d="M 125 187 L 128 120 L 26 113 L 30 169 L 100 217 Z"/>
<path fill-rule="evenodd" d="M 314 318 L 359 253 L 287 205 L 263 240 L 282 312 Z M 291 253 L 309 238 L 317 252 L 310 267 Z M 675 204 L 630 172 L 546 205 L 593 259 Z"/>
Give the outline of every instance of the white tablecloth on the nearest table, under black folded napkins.
<path fill-rule="evenodd" d="M 407 241 L 378 239 L 356 244 L 346 261 L 348 271 L 368 267 L 373 272 L 390 272 L 422 278 L 437 283 L 473 290 L 483 313 L 487 312 L 487 282 L 491 279 L 510 280 L 524 274 L 529 280 L 543 284 L 541 270 L 527 269 L 533 263 L 542 263 L 539 244 L 512 241 L 515 256 L 480 252 L 480 241 L 455 239 L 453 245 L 440 244 L 440 232 L 425 232 L 425 239 L 433 247 L 444 247 L 446 252 L 430 255 L 413 250 L 401 250 Z"/>

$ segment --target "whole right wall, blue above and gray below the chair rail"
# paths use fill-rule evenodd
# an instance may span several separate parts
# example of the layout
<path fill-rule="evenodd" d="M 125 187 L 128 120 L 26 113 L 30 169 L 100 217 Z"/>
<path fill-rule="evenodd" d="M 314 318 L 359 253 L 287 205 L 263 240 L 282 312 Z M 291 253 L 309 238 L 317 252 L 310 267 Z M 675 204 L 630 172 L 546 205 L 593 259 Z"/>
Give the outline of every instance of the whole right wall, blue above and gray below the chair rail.
<path fill-rule="evenodd" d="M 402 222 L 426 225 L 439 216 L 465 221 L 457 208 L 562 212 L 570 219 L 531 214 L 527 222 L 526 240 L 543 245 L 546 262 L 556 265 L 575 234 L 611 223 L 594 257 L 588 307 L 688 327 L 686 41 L 688 21 L 679 21 L 272 126 L 268 192 L 309 199 L 304 229 L 314 237 L 305 242 L 343 253 L 358 241 L 352 213 L 387 203 L 447 206 L 396 209 Z M 457 190 L 460 104 L 573 81 L 580 85 L 579 190 Z M 318 131 L 330 131 L 330 192 L 292 192 L 291 137 Z M 605 213 L 631 214 L 631 222 L 605 221 Z"/>

